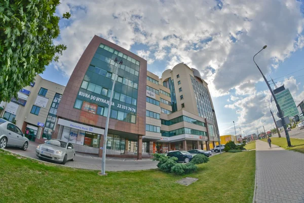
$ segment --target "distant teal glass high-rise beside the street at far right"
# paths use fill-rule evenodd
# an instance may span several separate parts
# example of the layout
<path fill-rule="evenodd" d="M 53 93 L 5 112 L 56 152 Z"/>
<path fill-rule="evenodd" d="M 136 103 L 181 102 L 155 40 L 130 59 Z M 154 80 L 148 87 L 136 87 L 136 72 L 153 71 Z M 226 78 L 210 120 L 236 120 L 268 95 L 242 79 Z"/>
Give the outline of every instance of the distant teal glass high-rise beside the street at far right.
<path fill-rule="evenodd" d="M 294 103 L 293 97 L 288 88 L 285 89 L 284 85 L 282 85 L 274 89 L 273 91 L 276 96 L 276 99 L 278 100 L 281 110 L 284 112 L 284 117 L 294 117 L 299 114 Z M 278 112 L 274 101 L 273 106 Z"/>

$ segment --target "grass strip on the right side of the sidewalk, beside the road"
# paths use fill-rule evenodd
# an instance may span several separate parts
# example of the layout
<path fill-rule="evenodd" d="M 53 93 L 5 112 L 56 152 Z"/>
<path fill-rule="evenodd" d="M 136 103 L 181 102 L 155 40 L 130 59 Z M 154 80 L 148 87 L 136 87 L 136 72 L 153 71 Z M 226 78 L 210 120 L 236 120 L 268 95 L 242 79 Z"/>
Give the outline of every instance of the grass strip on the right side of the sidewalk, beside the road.
<path fill-rule="evenodd" d="M 271 139 L 271 144 L 278 145 L 284 149 L 304 153 L 304 140 L 290 138 L 290 142 L 293 147 L 287 147 L 286 138 L 270 138 L 270 139 Z M 262 141 L 267 142 L 267 139 L 262 139 Z"/>

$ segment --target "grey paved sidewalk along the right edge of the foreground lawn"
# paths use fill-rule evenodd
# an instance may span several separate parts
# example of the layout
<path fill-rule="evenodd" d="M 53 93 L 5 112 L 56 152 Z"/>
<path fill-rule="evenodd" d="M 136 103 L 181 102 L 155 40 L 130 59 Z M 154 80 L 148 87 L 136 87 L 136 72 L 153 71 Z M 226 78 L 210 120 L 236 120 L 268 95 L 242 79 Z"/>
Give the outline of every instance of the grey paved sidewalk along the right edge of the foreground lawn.
<path fill-rule="evenodd" d="M 254 202 L 304 202 L 304 154 L 256 141 Z"/>

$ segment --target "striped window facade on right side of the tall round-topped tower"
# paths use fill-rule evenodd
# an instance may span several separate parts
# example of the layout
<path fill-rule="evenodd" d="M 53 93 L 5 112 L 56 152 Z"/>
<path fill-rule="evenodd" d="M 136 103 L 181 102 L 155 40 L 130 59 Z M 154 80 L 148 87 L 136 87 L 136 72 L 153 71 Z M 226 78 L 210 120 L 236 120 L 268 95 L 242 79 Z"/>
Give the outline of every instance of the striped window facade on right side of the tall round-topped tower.
<path fill-rule="evenodd" d="M 191 77 L 191 82 L 193 90 L 195 93 L 195 99 L 197 103 L 197 108 L 199 116 L 202 118 L 207 118 L 209 120 L 215 121 L 212 113 L 211 98 L 208 94 L 207 88 L 197 79 Z"/>

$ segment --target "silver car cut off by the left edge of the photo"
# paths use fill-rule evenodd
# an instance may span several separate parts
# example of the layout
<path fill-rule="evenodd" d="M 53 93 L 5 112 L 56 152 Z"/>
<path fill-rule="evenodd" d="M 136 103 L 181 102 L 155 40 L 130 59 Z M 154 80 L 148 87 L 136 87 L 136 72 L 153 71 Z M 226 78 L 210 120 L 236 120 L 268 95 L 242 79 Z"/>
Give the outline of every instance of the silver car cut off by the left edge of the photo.
<path fill-rule="evenodd" d="M 25 151 L 28 147 L 28 139 L 19 127 L 0 118 L 0 148 L 4 149 L 7 146 L 20 147 Z"/>

